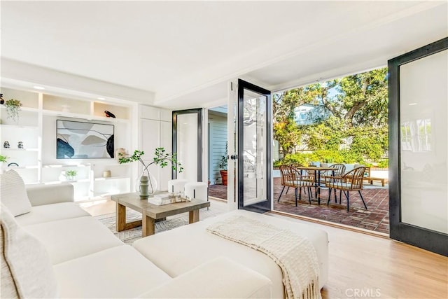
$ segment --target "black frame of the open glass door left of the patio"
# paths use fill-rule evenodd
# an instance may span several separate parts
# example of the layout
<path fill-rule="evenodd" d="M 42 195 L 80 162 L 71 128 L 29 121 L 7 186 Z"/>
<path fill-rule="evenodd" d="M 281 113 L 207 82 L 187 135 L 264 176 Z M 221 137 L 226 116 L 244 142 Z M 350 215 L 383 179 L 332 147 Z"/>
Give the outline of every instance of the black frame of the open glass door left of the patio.
<path fill-rule="evenodd" d="M 244 206 L 244 89 L 251 90 L 266 97 L 266 197 L 264 202 L 258 202 Z M 258 213 L 265 213 L 272 210 L 272 102 L 271 92 L 265 88 L 254 85 L 247 81 L 238 79 L 237 92 L 237 141 L 238 141 L 238 158 L 237 158 L 237 172 L 238 172 L 238 209 L 246 209 L 248 211 L 255 211 Z"/>

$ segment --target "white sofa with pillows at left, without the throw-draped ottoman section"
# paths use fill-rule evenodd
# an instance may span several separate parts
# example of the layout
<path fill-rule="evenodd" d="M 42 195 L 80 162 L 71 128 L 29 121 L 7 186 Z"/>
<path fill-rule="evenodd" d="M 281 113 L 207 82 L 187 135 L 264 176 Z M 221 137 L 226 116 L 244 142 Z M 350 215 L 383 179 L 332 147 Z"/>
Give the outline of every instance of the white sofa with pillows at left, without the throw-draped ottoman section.
<path fill-rule="evenodd" d="M 14 216 L 1 176 L 1 298 L 271 297 L 267 277 L 224 257 L 170 277 L 80 209 L 70 184 L 27 188 L 30 211 Z"/>

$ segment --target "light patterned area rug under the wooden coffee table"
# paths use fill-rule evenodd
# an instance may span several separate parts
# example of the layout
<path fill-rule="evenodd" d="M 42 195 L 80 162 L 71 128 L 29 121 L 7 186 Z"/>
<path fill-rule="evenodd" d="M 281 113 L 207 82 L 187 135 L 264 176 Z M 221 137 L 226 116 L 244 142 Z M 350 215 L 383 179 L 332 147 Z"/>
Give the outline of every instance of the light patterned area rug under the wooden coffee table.
<path fill-rule="evenodd" d="M 220 202 L 217 200 L 210 201 L 209 209 L 204 208 L 200 209 L 200 221 L 209 218 L 218 216 L 219 214 L 223 214 L 228 211 L 227 203 Z M 95 216 L 101 223 L 106 225 L 106 228 L 109 228 L 114 235 L 118 237 L 118 239 L 125 242 L 125 244 L 130 244 L 137 239 L 141 238 L 141 226 L 138 228 L 132 228 L 130 230 L 123 230 L 122 232 L 117 232 L 116 230 L 116 214 L 104 214 L 100 216 Z M 126 222 L 141 220 L 141 214 L 132 209 L 126 209 Z M 155 223 L 155 233 L 158 234 L 160 232 L 165 232 L 166 230 L 172 230 L 174 228 L 179 228 L 179 226 L 188 224 L 188 212 L 169 216 L 167 220 L 160 221 Z"/>

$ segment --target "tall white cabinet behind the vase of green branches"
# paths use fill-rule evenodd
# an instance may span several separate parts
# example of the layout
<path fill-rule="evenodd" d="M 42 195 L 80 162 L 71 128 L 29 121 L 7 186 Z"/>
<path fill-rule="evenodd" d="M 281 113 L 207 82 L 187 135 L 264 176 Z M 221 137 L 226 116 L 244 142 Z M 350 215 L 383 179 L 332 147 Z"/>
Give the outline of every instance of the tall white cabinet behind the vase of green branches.
<path fill-rule="evenodd" d="M 140 141 L 139 149 L 145 152 L 144 161 L 153 160 L 155 148 L 163 147 L 168 153 L 172 151 L 171 111 L 150 106 L 140 106 Z M 167 190 L 168 181 L 172 177 L 171 165 L 162 168 L 151 165 L 149 171 L 158 182 L 158 190 Z M 142 171 L 139 165 L 139 171 Z"/>

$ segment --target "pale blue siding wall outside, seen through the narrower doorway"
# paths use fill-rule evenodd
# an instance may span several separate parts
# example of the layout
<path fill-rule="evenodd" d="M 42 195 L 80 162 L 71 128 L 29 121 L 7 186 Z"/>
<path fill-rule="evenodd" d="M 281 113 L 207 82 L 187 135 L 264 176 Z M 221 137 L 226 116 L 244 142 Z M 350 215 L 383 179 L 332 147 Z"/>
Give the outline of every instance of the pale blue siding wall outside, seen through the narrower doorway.
<path fill-rule="evenodd" d="M 227 116 L 209 111 L 209 179 L 211 184 L 221 184 L 219 162 L 227 142 Z"/>

